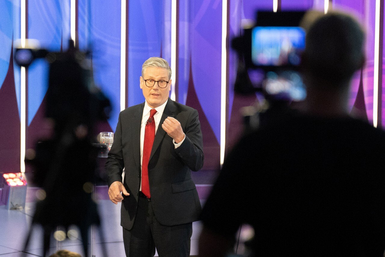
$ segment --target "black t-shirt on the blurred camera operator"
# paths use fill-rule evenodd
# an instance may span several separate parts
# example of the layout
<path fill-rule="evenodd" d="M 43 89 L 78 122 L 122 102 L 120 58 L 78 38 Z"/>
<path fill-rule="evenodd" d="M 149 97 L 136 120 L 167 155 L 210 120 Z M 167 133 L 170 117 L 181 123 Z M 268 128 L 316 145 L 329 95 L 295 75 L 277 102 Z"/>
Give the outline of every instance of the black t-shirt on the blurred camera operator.
<path fill-rule="evenodd" d="M 296 115 L 244 136 L 201 218 L 229 237 L 251 224 L 256 256 L 382 257 L 385 132 Z"/>

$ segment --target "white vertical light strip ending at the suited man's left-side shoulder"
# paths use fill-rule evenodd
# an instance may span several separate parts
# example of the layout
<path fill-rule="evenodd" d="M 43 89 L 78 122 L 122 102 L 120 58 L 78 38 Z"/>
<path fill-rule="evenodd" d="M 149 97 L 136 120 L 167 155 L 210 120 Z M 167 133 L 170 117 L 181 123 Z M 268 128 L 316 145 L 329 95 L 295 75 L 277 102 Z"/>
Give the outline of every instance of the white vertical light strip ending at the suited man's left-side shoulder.
<path fill-rule="evenodd" d="M 126 0 L 121 0 L 121 111 L 126 109 Z"/>

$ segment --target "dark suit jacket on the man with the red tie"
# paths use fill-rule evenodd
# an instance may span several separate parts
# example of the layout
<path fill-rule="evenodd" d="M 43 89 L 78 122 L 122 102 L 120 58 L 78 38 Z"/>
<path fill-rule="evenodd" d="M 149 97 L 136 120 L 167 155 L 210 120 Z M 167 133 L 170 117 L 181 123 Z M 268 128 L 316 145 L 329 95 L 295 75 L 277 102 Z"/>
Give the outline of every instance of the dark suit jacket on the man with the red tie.
<path fill-rule="evenodd" d="M 114 143 L 105 168 L 108 186 L 122 181 L 129 196 L 124 196 L 121 225 L 127 230 L 134 224 L 141 183 L 140 132 L 144 103 L 131 106 L 119 114 Z M 177 119 L 186 134 L 175 149 L 172 138 L 162 128 L 167 116 Z M 162 225 L 180 225 L 198 220 L 201 212 L 198 192 L 191 171 L 203 166 L 203 140 L 198 111 L 168 99 L 152 146 L 148 165 L 151 202 Z"/>

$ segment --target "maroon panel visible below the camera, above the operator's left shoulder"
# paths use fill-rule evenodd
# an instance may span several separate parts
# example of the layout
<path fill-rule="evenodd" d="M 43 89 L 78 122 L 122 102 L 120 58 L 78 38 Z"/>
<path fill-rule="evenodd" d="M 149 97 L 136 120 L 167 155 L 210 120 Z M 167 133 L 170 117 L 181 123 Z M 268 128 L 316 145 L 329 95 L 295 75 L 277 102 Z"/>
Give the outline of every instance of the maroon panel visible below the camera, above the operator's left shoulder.
<path fill-rule="evenodd" d="M 245 106 L 255 105 L 256 96 L 234 95 L 233 107 L 231 108 L 230 122 L 226 128 L 226 151 L 225 156 L 231 150 L 240 136 L 243 134 L 243 116 L 242 108 Z"/>

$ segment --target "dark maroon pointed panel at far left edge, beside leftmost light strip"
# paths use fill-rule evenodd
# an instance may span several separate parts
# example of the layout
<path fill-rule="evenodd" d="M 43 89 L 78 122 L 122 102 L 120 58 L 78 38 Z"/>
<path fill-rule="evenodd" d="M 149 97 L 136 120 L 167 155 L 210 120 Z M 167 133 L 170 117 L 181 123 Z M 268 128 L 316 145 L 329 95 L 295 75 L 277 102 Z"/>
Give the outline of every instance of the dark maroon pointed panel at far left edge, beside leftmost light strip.
<path fill-rule="evenodd" d="M 0 173 L 20 172 L 20 118 L 13 74 L 13 49 L 8 72 L 0 88 Z"/>

